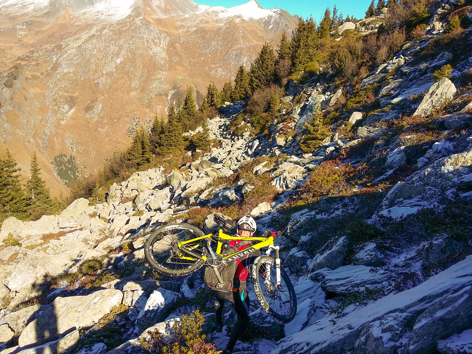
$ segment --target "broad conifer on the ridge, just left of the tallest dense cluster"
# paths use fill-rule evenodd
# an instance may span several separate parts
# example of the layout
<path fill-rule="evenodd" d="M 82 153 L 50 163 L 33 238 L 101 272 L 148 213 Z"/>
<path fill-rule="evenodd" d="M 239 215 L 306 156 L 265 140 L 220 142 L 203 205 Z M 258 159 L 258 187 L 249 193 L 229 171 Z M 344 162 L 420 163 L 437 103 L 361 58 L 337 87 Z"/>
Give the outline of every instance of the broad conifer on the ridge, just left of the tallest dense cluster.
<path fill-rule="evenodd" d="M 265 43 L 259 52 L 259 56 L 254 60 L 249 70 L 250 88 L 252 92 L 274 82 L 276 59 L 275 52 L 270 43 Z"/>

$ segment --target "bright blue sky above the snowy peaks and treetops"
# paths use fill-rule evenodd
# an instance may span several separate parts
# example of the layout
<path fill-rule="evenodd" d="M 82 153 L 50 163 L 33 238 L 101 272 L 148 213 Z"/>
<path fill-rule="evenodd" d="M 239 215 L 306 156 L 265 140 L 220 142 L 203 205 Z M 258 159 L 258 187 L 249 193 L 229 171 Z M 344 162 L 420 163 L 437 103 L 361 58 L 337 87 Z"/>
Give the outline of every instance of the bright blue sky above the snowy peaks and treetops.
<path fill-rule="evenodd" d="M 249 0 L 196 0 L 195 2 L 203 5 L 224 6 L 225 8 L 230 8 L 244 4 L 247 1 Z M 345 18 L 348 14 L 349 16 L 354 15 L 357 18 L 362 18 L 364 17 L 365 11 L 369 7 L 371 0 L 258 0 L 258 2 L 263 8 L 283 8 L 292 15 L 298 15 L 303 18 L 313 15 L 313 18 L 319 22 L 325 9 L 329 6 L 332 10 L 334 4 L 336 4 L 336 7 L 339 9 L 338 13 L 342 12 Z"/>

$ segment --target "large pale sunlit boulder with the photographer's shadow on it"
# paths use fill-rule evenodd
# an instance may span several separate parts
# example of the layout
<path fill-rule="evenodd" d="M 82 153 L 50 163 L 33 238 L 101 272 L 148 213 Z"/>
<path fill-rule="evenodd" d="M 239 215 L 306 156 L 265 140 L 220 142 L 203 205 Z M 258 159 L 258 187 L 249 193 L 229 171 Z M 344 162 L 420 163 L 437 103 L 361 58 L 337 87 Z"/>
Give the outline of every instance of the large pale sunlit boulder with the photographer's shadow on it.
<path fill-rule="evenodd" d="M 73 328 L 91 326 L 110 313 L 113 306 L 119 305 L 122 298 L 121 291 L 115 289 L 99 290 L 86 296 L 57 297 L 39 318 L 26 326 L 18 338 L 18 345 L 41 345 L 58 339 Z"/>

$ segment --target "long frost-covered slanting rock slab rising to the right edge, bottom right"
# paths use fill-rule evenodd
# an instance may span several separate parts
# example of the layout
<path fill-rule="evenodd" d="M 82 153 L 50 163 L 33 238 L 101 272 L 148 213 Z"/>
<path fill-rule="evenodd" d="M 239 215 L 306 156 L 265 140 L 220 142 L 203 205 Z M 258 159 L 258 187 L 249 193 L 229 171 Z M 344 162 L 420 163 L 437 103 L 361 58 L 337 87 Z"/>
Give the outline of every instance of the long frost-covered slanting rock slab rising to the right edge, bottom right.
<path fill-rule="evenodd" d="M 329 354 L 354 347 L 362 327 L 393 313 L 423 312 L 441 303 L 443 296 L 453 294 L 472 281 L 472 256 L 429 278 L 417 287 L 387 295 L 367 306 L 359 306 L 346 316 L 325 317 L 301 332 L 283 338 L 270 354 Z"/>

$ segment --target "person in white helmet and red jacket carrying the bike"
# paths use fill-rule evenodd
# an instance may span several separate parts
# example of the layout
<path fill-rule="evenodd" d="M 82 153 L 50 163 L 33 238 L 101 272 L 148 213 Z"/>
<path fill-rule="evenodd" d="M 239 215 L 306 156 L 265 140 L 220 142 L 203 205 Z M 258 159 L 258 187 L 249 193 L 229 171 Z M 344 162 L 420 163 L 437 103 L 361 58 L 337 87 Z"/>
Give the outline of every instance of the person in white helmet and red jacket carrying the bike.
<path fill-rule="evenodd" d="M 253 243 L 248 240 L 238 240 L 238 237 L 251 237 L 257 230 L 255 220 L 249 216 L 243 216 L 237 221 L 236 239 L 231 240 L 228 244 L 229 253 L 244 250 L 250 247 Z M 217 291 L 213 290 L 215 295 L 215 313 L 218 331 L 221 332 L 223 328 L 223 306 L 225 301 L 233 305 L 237 314 L 237 321 L 229 337 L 228 345 L 222 354 L 232 353 L 237 340 L 244 334 L 244 331 L 249 324 L 249 297 L 246 290 L 246 281 L 250 273 L 250 267 L 256 257 L 261 256 L 261 251 L 255 250 L 252 253 L 246 254 L 236 260 L 236 273 L 233 279 L 233 289 L 231 291 Z"/>

